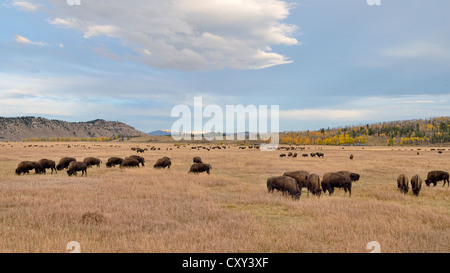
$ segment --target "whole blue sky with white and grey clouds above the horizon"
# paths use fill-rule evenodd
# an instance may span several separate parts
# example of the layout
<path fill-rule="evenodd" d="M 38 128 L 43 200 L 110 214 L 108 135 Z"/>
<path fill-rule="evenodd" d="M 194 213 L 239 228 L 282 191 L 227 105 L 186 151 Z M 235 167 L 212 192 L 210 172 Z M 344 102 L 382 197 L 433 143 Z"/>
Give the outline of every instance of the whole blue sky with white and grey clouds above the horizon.
<path fill-rule="evenodd" d="M 169 129 L 279 105 L 281 130 L 450 115 L 450 1 L 0 1 L 0 116 Z"/>

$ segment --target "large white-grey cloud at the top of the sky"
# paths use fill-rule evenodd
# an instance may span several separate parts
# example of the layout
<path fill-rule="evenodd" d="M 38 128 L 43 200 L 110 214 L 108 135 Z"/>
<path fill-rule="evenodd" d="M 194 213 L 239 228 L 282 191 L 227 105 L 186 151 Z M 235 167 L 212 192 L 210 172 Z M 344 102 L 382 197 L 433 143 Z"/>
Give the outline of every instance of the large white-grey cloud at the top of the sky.
<path fill-rule="evenodd" d="M 283 23 L 293 5 L 281 0 L 97 0 L 76 9 L 46 2 L 49 23 L 86 39 L 118 38 L 136 61 L 161 68 L 265 68 L 292 62 L 271 46 L 300 44 L 297 26 Z"/>

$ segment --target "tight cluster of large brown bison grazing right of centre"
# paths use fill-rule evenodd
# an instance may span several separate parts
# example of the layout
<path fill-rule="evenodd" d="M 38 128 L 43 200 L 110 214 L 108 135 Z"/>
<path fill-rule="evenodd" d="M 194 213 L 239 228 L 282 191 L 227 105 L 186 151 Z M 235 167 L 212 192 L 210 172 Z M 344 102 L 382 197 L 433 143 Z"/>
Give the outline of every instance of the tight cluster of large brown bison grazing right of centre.
<path fill-rule="evenodd" d="M 308 171 L 285 172 L 282 176 L 274 176 L 267 179 L 267 191 L 272 193 L 274 190 L 281 191 L 283 195 L 289 194 L 294 199 L 299 199 L 302 189 L 305 188 L 309 193 L 320 196 L 322 191 L 331 195 L 334 188 L 343 188 L 345 193 L 351 195 L 352 182 L 358 181 L 360 175 L 349 171 L 328 172 L 320 176 Z"/>

